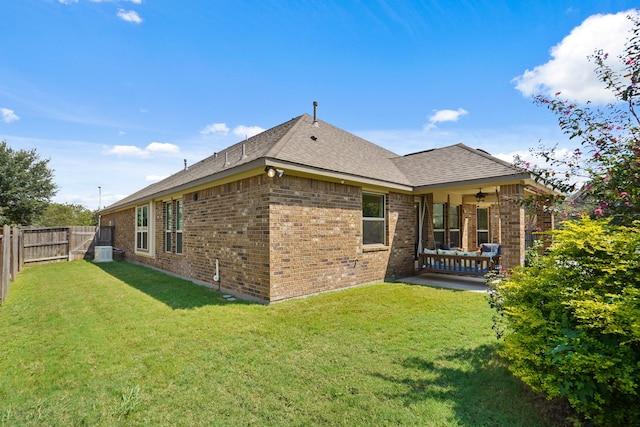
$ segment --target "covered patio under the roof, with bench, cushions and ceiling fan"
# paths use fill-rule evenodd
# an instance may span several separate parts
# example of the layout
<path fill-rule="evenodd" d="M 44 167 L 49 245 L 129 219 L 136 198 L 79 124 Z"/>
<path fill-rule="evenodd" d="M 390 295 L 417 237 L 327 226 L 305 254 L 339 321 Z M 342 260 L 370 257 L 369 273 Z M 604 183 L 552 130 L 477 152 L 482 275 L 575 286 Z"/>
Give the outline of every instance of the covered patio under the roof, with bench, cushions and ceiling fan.
<path fill-rule="evenodd" d="M 553 213 L 543 201 L 525 207 L 525 199 L 549 191 L 528 181 L 423 189 L 416 201 L 417 267 L 438 262 L 448 274 L 483 276 L 487 269 L 523 265 L 532 243 L 527 236 L 554 227 Z M 545 247 L 549 243 L 543 242 Z"/>

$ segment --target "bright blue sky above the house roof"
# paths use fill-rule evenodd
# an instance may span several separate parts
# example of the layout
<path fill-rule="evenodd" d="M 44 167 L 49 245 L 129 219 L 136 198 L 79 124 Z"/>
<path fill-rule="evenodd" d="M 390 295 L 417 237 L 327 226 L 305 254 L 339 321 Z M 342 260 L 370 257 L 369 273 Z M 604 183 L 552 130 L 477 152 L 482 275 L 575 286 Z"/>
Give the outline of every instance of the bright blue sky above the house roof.
<path fill-rule="evenodd" d="M 398 154 L 568 146 L 633 1 L 3 0 L 0 139 L 90 209 L 303 113 Z M 98 187 L 101 191 L 98 191 Z"/>

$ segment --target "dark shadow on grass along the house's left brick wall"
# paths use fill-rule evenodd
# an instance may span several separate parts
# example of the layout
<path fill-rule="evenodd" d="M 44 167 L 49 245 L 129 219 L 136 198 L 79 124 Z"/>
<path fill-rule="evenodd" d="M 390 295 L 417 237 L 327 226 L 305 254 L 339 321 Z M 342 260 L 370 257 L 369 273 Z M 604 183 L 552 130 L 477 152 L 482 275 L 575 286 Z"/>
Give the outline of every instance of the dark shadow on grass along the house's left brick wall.
<path fill-rule="evenodd" d="M 208 305 L 250 304 L 246 301 L 227 301 L 217 290 L 128 262 L 96 263 L 100 269 L 116 279 L 144 292 L 174 310 L 189 310 Z"/>

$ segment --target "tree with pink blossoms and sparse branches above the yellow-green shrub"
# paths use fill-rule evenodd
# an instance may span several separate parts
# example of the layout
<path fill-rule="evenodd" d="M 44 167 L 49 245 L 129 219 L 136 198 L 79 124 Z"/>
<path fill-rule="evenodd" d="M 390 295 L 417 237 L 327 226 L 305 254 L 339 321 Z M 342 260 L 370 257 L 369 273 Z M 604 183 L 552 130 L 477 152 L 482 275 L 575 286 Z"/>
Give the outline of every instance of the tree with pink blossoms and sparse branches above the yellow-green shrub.
<path fill-rule="evenodd" d="M 561 99 L 561 93 L 535 97 L 558 116 L 560 128 L 580 146 L 570 156 L 559 155 L 556 147 L 539 148 L 534 154 L 544 159 L 541 166 L 516 159 L 536 179 L 561 192 L 580 190 L 581 197 L 595 203 L 592 215 L 627 225 L 640 219 L 640 15 L 629 19 L 633 28 L 619 58 L 622 70 L 616 71 L 601 50 L 590 58 L 617 102 L 597 107 Z"/>

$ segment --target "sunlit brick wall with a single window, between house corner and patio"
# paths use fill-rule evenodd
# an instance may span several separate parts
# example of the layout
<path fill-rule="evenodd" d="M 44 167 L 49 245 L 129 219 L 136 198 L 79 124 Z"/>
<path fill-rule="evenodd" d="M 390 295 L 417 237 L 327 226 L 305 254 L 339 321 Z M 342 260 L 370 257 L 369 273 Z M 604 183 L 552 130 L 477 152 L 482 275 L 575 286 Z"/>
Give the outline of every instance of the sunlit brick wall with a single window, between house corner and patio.
<path fill-rule="evenodd" d="M 387 195 L 388 245 L 364 249 L 359 187 L 285 175 L 270 201 L 270 301 L 413 272 L 412 196 Z"/>

